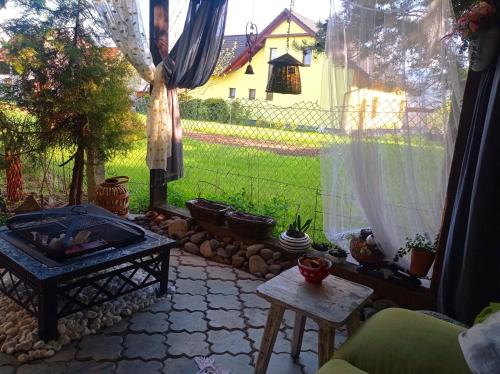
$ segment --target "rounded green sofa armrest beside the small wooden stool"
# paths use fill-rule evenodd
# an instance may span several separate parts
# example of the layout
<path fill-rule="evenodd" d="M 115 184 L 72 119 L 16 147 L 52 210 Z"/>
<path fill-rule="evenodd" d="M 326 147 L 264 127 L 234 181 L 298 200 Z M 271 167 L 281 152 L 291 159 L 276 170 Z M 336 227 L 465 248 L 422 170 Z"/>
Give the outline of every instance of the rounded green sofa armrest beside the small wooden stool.
<path fill-rule="evenodd" d="M 463 327 L 406 309 L 371 317 L 318 374 L 470 374 L 458 344 Z"/>

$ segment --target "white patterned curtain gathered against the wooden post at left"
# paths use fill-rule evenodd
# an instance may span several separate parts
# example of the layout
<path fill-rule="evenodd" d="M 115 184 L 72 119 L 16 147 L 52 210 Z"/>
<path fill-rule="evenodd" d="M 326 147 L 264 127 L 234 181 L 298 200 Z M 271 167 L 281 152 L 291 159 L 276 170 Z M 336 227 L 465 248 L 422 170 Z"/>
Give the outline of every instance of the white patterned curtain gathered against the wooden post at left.
<path fill-rule="evenodd" d="M 153 64 L 137 0 L 94 0 L 94 5 L 104 27 L 123 55 L 144 80 L 154 82 L 146 122 L 146 163 L 149 169 L 166 170 L 167 159 L 172 155 L 172 116 L 163 77 L 163 63 L 157 67 Z"/>

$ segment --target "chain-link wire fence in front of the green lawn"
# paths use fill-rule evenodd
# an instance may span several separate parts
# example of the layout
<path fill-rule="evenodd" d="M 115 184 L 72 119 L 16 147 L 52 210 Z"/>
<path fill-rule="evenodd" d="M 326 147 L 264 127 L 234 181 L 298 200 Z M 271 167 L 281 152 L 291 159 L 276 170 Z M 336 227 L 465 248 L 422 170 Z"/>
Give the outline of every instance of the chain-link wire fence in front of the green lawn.
<path fill-rule="evenodd" d="M 310 102 L 279 107 L 270 101 L 199 100 L 181 94 L 180 105 L 185 177 L 168 184 L 169 204 L 183 207 L 196 197 L 223 201 L 243 211 L 274 217 L 277 232 L 299 213 L 304 220 L 313 218 L 311 236 L 319 241 L 325 239 L 320 150 L 325 144 L 341 149 L 350 141 L 349 132 L 356 129 L 356 124 L 373 122 L 374 109 L 370 105 L 362 114 L 366 118 L 360 118 L 359 111 L 324 110 Z M 136 100 L 134 106 L 145 113 L 147 97 Z M 413 110 L 403 118 L 402 111 L 397 104 L 379 113 L 378 121 L 388 126 L 374 124 L 374 129 L 382 131 L 382 136 L 404 127 L 430 138 L 439 136 L 432 127 L 435 112 Z M 345 118 L 346 113 L 349 118 Z M 401 125 L 394 126 L 395 121 Z M 72 167 L 71 163 L 59 166 L 65 157 L 64 152 L 54 150 L 23 160 L 25 191 L 64 201 Z M 144 138 L 106 164 L 106 176 L 130 177 L 131 211 L 144 211 L 149 203 L 145 159 Z M 4 184 L 2 175 L 0 189 Z M 353 196 L 345 199 L 352 200 Z"/>

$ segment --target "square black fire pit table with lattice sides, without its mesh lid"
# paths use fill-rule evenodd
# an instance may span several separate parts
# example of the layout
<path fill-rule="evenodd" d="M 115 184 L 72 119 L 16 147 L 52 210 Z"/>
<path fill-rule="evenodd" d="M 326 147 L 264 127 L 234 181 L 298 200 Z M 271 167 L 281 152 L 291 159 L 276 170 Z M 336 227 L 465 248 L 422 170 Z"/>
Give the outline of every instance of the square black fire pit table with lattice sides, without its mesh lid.
<path fill-rule="evenodd" d="M 139 242 L 53 266 L 30 255 L 27 246 L 33 244 L 0 226 L 0 291 L 38 318 L 40 338 L 47 341 L 57 338 L 61 317 L 155 283 L 159 283 L 158 295 L 165 294 L 175 241 L 145 231 Z M 92 296 L 82 298 L 84 290 Z"/>

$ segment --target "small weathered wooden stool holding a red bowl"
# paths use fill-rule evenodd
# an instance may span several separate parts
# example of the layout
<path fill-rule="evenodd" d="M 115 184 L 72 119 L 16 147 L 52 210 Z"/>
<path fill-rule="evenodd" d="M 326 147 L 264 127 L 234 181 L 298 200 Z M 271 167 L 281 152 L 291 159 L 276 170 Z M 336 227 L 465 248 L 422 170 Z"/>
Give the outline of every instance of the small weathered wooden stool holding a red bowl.
<path fill-rule="evenodd" d="M 335 348 L 335 329 L 347 325 L 351 334 L 359 323 L 358 312 L 373 294 L 371 288 L 333 275 L 321 284 L 305 281 L 297 266 L 257 288 L 257 295 L 271 303 L 260 344 L 255 374 L 265 374 L 285 309 L 295 311 L 292 357 L 300 354 L 306 318 L 318 331 L 318 367 L 327 362 Z"/>

